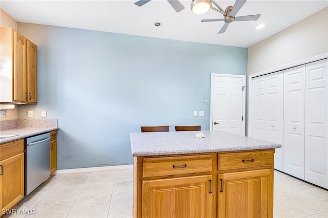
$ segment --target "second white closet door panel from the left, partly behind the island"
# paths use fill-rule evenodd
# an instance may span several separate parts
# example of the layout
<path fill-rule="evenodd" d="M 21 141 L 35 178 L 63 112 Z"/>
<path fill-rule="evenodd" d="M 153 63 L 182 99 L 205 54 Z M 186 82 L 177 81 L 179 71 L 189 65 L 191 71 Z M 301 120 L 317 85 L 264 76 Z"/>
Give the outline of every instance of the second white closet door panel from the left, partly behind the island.
<path fill-rule="evenodd" d="M 265 140 L 283 144 L 283 72 L 266 78 Z M 274 168 L 283 170 L 283 147 L 276 148 Z"/>

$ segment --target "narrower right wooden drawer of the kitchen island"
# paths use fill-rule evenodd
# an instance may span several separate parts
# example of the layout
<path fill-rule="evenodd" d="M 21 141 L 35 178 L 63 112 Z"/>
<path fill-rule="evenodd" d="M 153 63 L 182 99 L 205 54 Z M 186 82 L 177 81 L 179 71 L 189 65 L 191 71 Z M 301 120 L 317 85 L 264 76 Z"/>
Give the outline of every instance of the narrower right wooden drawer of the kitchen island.
<path fill-rule="evenodd" d="M 274 150 L 227 152 L 218 154 L 218 170 L 273 165 Z"/>

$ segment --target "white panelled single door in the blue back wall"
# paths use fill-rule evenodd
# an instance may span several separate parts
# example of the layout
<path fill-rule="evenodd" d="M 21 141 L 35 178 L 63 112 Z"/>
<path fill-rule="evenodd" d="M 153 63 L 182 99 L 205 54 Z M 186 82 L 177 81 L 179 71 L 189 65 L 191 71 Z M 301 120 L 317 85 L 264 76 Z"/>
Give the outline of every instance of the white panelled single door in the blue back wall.
<path fill-rule="evenodd" d="M 211 130 L 245 135 L 245 76 L 211 74 Z"/>

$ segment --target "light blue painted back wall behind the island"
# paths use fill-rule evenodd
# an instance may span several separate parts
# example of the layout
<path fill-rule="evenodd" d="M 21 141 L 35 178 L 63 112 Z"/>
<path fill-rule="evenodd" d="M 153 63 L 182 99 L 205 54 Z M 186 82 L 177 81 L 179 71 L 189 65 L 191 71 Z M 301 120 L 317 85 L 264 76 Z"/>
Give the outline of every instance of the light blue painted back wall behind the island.
<path fill-rule="evenodd" d="M 210 129 L 210 73 L 247 75 L 247 49 L 18 23 L 37 46 L 38 103 L 58 119 L 58 169 L 132 164 L 141 125 Z M 194 117 L 204 111 L 204 117 Z"/>

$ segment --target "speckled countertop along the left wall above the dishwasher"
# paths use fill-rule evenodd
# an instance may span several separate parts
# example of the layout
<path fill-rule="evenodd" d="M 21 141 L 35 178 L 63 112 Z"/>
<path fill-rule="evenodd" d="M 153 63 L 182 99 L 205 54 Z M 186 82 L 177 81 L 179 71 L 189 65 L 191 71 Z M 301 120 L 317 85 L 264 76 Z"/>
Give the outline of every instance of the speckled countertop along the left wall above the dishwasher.
<path fill-rule="evenodd" d="M 0 135 L 17 135 L 5 139 L 0 139 L 0 144 L 10 142 L 18 139 L 35 136 L 42 133 L 51 132 L 56 130 L 58 127 L 23 127 L 23 128 L 12 128 L 7 130 L 1 130 Z"/>

